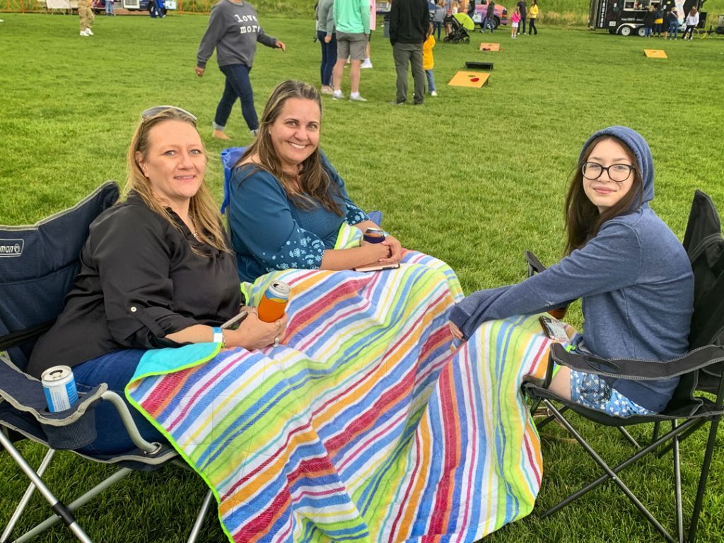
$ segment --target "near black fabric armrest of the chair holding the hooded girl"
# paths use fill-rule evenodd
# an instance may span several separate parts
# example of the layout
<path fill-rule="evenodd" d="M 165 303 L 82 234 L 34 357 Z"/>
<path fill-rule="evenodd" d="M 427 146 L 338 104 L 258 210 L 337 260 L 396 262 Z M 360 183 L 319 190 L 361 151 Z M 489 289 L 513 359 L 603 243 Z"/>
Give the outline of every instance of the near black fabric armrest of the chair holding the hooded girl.
<path fill-rule="evenodd" d="M 559 343 L 550 349 L 550 359 L 576 371 L 639 381 L 670 379 L 724 361 L 724 348 L 706 345 L 668 361 L 600 358 L 596 355 L 568 353 Z"/>

